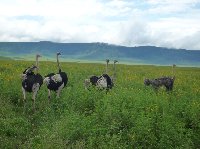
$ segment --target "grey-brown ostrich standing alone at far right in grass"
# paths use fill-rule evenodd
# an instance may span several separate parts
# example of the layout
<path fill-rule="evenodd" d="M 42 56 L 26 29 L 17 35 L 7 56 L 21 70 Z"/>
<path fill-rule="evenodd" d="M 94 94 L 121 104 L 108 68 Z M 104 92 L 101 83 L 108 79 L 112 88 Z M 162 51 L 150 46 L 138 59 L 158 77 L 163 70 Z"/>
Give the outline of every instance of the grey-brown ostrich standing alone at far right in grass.
<path fill-rule="evenodd" d="M 146 86 L 151 85 L 155 90 L 157 90 L 159 87 L 164 86 L 166 88 L 166 91 L 172 91 L 175 75 L 174 75 L 174 68 L 176 67 L 175 64 L 172 65 L 172 75 L 173 77 L 160 77 L 156 79 L 145 79 L 144 84 Z"/>

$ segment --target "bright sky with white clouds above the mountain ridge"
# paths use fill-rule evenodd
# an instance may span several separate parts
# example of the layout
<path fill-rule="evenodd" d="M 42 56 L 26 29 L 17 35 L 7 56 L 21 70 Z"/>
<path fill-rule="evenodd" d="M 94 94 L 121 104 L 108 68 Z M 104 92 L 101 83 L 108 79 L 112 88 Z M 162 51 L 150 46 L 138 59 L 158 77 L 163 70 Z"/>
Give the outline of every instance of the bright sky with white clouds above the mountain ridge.
<path fill-rule="evenodd" d="M 0 42 L 200 50 L 200 0 L 0 0 Z"/>

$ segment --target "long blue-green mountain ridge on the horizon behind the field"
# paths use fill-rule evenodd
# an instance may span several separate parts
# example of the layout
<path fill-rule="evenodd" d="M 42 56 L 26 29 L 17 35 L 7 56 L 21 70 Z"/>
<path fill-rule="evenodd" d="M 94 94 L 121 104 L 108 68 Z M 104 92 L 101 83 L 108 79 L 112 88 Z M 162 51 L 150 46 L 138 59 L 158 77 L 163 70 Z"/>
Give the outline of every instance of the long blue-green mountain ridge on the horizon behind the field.
<path fill-rule="evenodd" d="M 124 62 L 158 65 L 200 66 L 200 50 L 169 49 L 155 46 L 125 47 L 107 43 L 0 42 L 0 56 L 23 58 L 40 53 L 55 57 L 60 51 L 63 58 L 77 60 L 118 59 Z"/>

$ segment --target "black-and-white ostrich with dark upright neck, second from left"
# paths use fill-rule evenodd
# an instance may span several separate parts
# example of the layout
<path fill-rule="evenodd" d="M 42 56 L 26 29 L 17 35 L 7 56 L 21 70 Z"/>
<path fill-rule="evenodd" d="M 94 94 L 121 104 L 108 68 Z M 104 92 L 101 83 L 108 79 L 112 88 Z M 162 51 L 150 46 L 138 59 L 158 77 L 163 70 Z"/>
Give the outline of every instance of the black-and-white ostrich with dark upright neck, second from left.
<path fill-rule="evenodd" d="M 61 71 L 60 63 L 58 60 L 58 56 L 61 55 L 57 53 L 57 64 L 58 64 L 58 73 L 50 73 L 45 76 L 44 83 L 47 85 L 48 88 L 48 98 L 51 98 L 51 91 L 55 91 L 57 93 L 57 98 L 60 97 L 61 90 L 66 86 L 68 82 L 68 77 L 65 72 Z"/>

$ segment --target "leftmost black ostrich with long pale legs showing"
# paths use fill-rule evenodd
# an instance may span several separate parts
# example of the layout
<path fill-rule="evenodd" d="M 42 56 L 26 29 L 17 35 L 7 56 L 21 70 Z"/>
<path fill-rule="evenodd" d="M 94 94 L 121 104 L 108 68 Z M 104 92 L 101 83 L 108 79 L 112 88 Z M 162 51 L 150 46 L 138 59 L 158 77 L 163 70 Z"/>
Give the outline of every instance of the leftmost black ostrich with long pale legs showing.
<path fill-rule="evenodd" d="M 40 55 L 36 55 L 36 66 L 28 67 L 22 74 L 22 92 L 24 95 L 24 109 L 26 106 L 26 92 L 33 92 L 33 110 L 35 111 L 35 98 L 37 95 L 38 90 L 43 84 L 43 78 L 38 73 L 38 58 L 41 57 Z M 36 70 L 36 74 L 33 72 Z"/>

